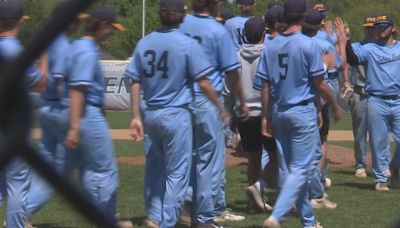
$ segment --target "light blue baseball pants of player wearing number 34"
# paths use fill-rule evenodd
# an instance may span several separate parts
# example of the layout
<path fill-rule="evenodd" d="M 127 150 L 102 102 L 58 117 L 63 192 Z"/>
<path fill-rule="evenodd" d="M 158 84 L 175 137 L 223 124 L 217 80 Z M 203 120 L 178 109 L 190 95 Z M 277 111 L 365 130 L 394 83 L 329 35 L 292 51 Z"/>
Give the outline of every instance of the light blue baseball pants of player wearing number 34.
<path fill-rule="evenodd" d="M 185 107 L 147 108 L 144 115 L 147 216 L 174 227 L 189 184 L 193 128 Z"/>

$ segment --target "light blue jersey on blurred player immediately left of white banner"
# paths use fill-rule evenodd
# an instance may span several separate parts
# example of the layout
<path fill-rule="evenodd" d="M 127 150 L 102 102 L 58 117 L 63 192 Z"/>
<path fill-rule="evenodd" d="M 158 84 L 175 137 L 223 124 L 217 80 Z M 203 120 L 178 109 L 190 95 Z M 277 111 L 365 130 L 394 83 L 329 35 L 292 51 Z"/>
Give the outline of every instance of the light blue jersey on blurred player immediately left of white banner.
<path fill-rule="evenodd" d="M 69 48 L 66 65 L 68 87 L 87 87 L 86 104 L 101 107 L 105 83 L 96 42 L 88 38 L 75 40 Z"/>

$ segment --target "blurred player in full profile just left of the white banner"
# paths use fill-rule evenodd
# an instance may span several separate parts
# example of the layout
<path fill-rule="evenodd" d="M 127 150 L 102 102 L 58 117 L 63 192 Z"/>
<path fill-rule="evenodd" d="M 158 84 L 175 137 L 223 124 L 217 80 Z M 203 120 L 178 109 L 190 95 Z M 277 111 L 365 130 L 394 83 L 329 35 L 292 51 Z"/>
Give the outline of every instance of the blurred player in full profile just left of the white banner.
<path fill-rule="evenodd" d="M 99 62 L 98 43 L 113 30 L 123 31 L 112 8 L 91 11 L 85 35 L 75 40 L 67 56 L 69 89 L 69 129 L 65 146 L 79 153 L 82 160 L 82 184 L 89 199 L 113 218 L 116 210 L 118 169 L 113 142 L 102 110 L 104 76 Z"/>

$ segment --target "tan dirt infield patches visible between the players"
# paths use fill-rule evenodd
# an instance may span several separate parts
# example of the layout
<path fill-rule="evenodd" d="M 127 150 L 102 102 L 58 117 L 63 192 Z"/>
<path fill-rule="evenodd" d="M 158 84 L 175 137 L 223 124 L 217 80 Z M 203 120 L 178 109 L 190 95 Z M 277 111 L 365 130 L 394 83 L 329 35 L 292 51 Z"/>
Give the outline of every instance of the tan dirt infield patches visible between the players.
<path fill-rule="evenodd" d="M 110 134 L 114 140 L 131 140 L 129 136 L 129 130 L 126 129 L 111 129 Z M 40 138 L 40 130 L 33 130 L 33 137 L 35 139 Z M 353 133 L 351 131 L 344 130 L 332 130 L 329 131 L 328 141 L 353 141 Z M 226 162 L 228 166 L 247 164 L 246 154 L 240 151 L 234 151 L 231 149 L 226 150 Z M 347 166 L 354 165 L 354 152 L 352 149 L 329 145 L 328 146 L 328 158 L 330 164 L 333 166 Z M 145 157 L 118 157 L 118 162 L 123 164 L 144 164 Z M 367 154 L 367 164 L 371 164 L 371 158 Z"/>

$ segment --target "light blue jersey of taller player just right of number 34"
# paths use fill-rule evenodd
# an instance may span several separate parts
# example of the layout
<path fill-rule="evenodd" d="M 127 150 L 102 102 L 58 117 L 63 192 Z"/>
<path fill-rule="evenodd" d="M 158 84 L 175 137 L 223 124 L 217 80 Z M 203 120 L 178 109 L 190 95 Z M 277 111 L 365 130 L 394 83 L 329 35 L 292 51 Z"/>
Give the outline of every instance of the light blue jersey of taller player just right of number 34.
<path fill-rule="evenodd" d="M 215 18 L 196 14 L 186 16 L 180 30 L 200 43 L 206 58 L 215 69 L 209 80 L 215 91 L 220 93 L 224 88 L 224 72 L 240 67 L 231 35 Z M 194 90 L 200 93 L 198 86 Z"/>

